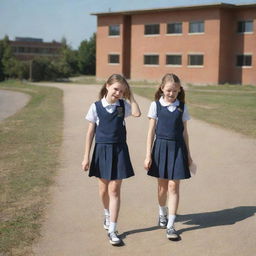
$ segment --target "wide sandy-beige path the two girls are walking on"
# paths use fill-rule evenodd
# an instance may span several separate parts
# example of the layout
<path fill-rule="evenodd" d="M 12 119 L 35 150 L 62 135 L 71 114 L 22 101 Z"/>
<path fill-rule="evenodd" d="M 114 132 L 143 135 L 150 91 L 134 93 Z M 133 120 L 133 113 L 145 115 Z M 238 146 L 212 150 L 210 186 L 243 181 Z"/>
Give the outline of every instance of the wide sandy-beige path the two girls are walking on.
<path fill-rule="evenodd" d="M 47 84 L 49 85 L 49 84 Z M 109 244 L 95 178 L 81 171 L 84 120 L 98 86 L 51 84 L 64 90 L 64 141 L 61 168 L 52 188 L 41 256 L 252 256 L 256 251 L 256 141 L 205 122 L 189 122 L 190 147 L 198 173 L 181 185 L 181 241 L 158 229 L 156 180 L 143 169 L 149 100 L 136 96 L 141 118 L 128 118 L 128 144 L 136 176 L 125 180 L 118 223 L 124 246 Z"/>

